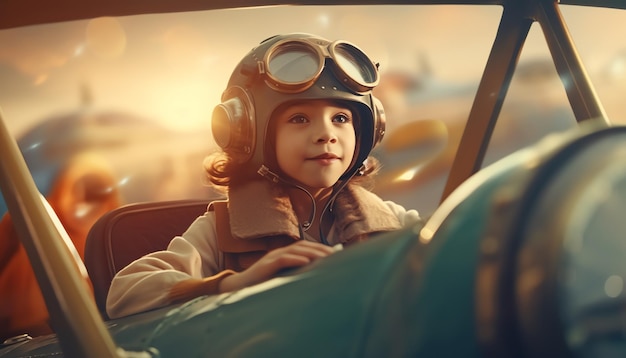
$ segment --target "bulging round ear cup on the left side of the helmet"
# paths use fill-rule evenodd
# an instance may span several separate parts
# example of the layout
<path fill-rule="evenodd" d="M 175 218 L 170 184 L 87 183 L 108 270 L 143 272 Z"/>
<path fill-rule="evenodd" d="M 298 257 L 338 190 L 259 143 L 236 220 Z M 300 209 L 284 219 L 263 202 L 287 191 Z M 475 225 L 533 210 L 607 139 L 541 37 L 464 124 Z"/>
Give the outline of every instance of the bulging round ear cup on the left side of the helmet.
<path fill-rule="evenodd" d="M 239 86 L 226 89 L 222 103 L 211 118 L 213 139 L 237 163 L 250 159 L 256 142 L 256 120 L 252 100 Z"/>

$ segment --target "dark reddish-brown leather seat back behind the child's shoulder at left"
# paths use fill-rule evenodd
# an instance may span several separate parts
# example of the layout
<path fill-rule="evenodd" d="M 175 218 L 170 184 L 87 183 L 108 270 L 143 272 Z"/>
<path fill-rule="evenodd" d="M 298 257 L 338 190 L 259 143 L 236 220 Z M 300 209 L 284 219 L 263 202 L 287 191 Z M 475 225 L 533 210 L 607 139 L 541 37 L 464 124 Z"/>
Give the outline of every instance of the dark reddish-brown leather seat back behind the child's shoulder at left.
<path fill-rule="evenodd" d="M 98 219 L 85 242 L 85 266 L 104 318 L 113 276 L 141 256 L 166 249 L 174 236 L 206 212 L 208 204 L 208 200 L 129 204 Z"/>

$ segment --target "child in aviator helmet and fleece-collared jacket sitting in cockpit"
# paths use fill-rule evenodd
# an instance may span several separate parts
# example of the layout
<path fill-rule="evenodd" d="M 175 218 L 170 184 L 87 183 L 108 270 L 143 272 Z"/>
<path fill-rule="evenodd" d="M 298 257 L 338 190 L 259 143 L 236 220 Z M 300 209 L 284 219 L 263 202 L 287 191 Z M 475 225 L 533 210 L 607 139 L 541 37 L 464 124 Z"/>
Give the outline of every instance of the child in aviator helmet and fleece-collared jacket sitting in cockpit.
<path fill-rule="evenodd" d="M 207 173 L 228 201 L 121 270 L 108 315 L 237 290 L 419 220 L 364 187 L 385 129 L 377 83 L 377 65 L 343 41 L 289 34 L 252 49 L 212 118 L 222 152 Z"/>

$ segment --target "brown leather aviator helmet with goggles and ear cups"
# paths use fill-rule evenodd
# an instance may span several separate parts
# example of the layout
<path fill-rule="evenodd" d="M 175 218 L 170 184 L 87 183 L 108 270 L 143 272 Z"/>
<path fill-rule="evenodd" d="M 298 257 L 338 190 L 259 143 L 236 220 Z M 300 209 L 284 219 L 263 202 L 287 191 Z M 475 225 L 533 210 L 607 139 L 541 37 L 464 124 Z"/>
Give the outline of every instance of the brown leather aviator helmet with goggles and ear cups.
<path fill-rule="evenodd" d="M 350 178 L 385 133 L 383 106 L 372 95 L 378 81 L 378 65 L 348 42 L 304 33 L 271 37 L 235 67 L 213 110 L 213 137 L 237 163 L 264 175 L 277 169 L 271 165 L 275 148 L 268 145 L 268 128 L 278 107 L 309 99 L 340 101 L 357 119 L 356 153 L 342 175 Z"/>

